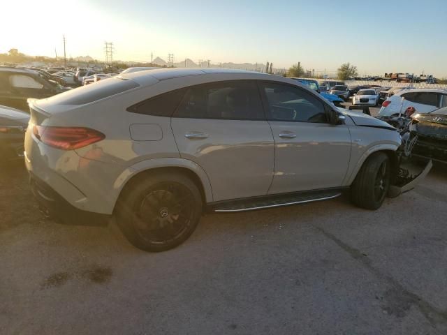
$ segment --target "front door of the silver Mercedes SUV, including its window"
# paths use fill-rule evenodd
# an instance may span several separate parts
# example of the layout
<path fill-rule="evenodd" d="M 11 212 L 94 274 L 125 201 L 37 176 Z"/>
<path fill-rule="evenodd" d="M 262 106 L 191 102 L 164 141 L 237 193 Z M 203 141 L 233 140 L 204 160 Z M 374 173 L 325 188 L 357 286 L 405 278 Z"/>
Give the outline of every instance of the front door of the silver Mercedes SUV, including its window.
<path fill-rule="evenodd" d="M 328 122 L 328 105 L 288 84 L 261 84 L 275 147 L 269 194 L 342 186 L 351 156 L 351 135 Z"/>

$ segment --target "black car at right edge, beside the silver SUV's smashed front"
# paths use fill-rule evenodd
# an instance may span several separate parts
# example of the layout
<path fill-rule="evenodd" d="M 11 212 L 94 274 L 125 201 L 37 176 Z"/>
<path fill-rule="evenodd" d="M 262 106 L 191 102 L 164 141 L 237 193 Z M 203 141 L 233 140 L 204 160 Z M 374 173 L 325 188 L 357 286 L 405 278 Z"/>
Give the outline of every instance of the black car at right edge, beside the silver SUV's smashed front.
<path fill-rule="evenodd" d="M 412 118 L 410 135 L 418 136 L 412 154 L 447 163 L 447 107 Z"/>

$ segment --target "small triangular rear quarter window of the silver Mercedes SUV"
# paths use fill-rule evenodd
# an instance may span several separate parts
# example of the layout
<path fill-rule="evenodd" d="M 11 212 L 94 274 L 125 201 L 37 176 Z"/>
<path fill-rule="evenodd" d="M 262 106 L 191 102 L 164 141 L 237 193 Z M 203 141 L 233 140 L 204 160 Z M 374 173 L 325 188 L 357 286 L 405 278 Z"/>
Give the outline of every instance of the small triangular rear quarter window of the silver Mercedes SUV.
<path fill-rule="evenodd" d="M 127 110 L 133 113 L 154 115 L 156 117 L 171 117 L 182 101 L 185 91 L 185 89 L 179 89 L 161 94 L 137 103 L 127 108 Z"/>

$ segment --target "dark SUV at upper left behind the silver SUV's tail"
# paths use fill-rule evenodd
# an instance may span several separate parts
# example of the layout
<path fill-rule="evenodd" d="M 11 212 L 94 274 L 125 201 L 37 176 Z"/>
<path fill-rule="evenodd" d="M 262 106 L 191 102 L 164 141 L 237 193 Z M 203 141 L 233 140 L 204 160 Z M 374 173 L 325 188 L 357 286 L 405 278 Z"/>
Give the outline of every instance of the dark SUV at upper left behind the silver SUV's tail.
<path fill-rule="evenodd" d="M 47 98 L 66 90 L 35 70 L 0 66 L 0 105 L 28 112 L 27 98 Z"/>

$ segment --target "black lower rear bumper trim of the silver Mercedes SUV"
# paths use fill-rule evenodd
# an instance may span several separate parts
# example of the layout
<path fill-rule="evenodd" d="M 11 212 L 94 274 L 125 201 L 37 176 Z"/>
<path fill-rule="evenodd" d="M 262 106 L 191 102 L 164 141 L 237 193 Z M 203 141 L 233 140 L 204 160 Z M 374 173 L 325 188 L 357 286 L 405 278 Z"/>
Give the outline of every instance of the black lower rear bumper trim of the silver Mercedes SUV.
<path fill-rule="evenodd" d="M 49 218 L 71 225 L 107 225 L 110 220 L 111 216 L 108 214 L 83 211 L 74 207 L 32 172 L 29 173 L 29 184 L 41 211 Z"/>

